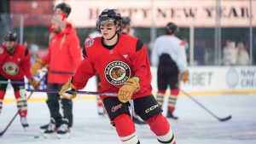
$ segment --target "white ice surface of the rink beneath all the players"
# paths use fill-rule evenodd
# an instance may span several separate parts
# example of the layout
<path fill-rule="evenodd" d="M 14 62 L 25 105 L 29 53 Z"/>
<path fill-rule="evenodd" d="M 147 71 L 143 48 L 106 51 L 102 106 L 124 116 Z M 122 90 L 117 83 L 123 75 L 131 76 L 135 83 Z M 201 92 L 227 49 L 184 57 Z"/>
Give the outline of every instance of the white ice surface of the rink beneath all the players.
<path fill-rule="evenodd" d="M 176 135 L 177 144 L 255 144 L 256 143 L 256 95 L 195 96 L 218 117 L 232 115 L 230 121 L 219 122 L 205 110 L 181 96 L 175 114 L 178 120 L 169 120 Z M 4 104 L 0 115 L 0 131 L 16 112 L 15 103 Z M 165 111 L 166 112 L 166 111 Z M 165 113 L 164 112 L 164 113 Z M 39 126 L 49 122 L 49 110 L 44 102 L 28 103 L 30 127 L 24 131 L 20 117 L 0 137 L 0 144 L 119 144 L 119 137 L 109 124 L 108 118 L 96 114 L 96 101 L 74 101 L 74 123 L 69 139 L 39 138 Z M 157 144 L 148 125 L 136 125 L 142 144 Z"/>

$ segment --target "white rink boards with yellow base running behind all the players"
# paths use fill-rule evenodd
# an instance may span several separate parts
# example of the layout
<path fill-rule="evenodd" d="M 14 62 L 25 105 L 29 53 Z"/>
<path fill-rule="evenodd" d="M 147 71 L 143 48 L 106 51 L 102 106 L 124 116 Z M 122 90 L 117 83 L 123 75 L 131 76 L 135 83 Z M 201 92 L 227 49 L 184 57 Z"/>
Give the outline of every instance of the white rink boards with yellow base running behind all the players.
<path fill-rule="evenodd" d="M 151 72 L 153 93 L 155 94 L 157 91 L 157 68 L 151 67 Z M 181 88 L 189 92 L 190 95 L 255 95 L 256 66 L 189 66 L 189 82 L 181 83 Z M 83 90 L 96 91 L 96 78 L 90 78 Z M 95 96 L 79 95 L 78 99 L 95 99 Z M 45 93 L 35 93 L 31 98 L 31 101 L 45 100 Z M 13 90 L 8 90 L 4 102 L 14 101 Z"/>

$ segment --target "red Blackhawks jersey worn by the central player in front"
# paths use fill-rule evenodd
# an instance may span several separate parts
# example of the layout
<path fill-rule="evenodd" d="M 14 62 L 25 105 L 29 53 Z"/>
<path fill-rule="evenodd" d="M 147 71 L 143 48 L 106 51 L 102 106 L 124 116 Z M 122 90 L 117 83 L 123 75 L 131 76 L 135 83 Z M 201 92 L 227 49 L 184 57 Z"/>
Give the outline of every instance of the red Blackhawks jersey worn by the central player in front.
<path fill-rule="evenodd" d="M 152 93 L 147 49 L 137 37 L 119 35 L 119 42 L 113 49 L 102 45 L 102 37 L 87 41 L 84 44 L 84 60 L 73 76 L 73 85 L 83 89 L 96 73 L 101 78 L 101 92 L 118 93 L 127 79 L 138 77 L 141 89 L 132 98 Z"/>

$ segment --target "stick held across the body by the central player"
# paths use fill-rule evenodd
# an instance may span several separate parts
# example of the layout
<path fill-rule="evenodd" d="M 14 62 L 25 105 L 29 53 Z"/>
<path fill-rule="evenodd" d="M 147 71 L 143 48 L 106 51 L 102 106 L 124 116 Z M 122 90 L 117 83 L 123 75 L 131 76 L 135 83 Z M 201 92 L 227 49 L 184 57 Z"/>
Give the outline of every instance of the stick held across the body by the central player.
<path fill-rule="evenodd" d="M 45 92 L 45 93 L 54 93 L 57 94 L 59 93 L 60 90 L 58 89 L 49 89 L 49 90 L 44 90 L 44 89 L 26 89 L 27 91 L 31 92 Z M 107 93 L 107 92 L 94 92 L 94 91 L 77 91 L 77 94 L 84 94 L 84 95 L 107 95 L 107 96 L 113 96 L 117 97 L 117 93 Z"/>

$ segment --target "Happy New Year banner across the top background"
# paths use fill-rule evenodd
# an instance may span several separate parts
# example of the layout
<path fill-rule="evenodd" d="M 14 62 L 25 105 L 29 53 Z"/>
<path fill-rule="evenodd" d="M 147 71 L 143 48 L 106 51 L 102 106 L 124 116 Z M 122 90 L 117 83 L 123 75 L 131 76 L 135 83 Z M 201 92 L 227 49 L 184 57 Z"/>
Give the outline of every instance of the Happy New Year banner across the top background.
<path fill-rule="evenodd" d="M 96 26 L 96 18 L 103 9 L 119 9 L 123 16 L 131 16 L 133 26 L 166 26 L 174 21 L 178 26 L 214 27 L 217 21 L 215 0 L 67 0 L 73 9 L 70 20 L 78 27 Z M 256 5 L 253 0 L 252 5 Z M 253 7 L 254 8 L 254 7 Z M 252 9 L 253 19 L 256 9 Z M 220 1 L 222 27 L 249 26 L 250 1 Z M 252 20 L 256 26 L 256 20 Z"/>

